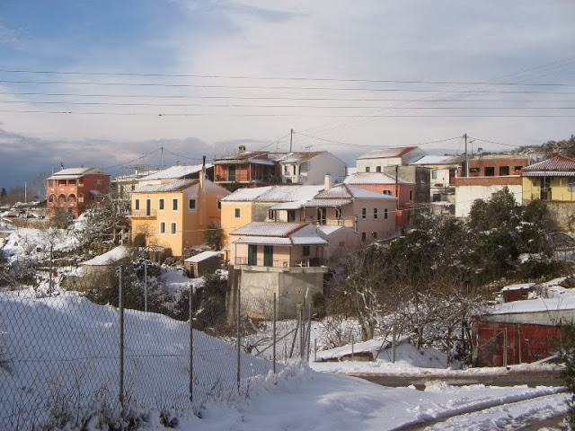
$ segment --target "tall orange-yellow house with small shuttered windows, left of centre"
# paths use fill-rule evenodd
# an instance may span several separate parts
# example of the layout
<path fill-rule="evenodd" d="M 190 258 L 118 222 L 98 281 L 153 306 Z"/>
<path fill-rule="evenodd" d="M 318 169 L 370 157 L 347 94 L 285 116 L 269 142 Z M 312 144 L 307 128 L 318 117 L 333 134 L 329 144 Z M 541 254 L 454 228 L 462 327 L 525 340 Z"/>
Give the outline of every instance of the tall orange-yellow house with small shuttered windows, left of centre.
<path fill-rule="evenodd" d="M 174 180 L 147 185 L 131 194 L 132 241 L 170 249 L 182 256 L 194 245 L 203 244 L 208 224 L 219 224 L 220 202 L 230 192 L 205 179 Z"/>

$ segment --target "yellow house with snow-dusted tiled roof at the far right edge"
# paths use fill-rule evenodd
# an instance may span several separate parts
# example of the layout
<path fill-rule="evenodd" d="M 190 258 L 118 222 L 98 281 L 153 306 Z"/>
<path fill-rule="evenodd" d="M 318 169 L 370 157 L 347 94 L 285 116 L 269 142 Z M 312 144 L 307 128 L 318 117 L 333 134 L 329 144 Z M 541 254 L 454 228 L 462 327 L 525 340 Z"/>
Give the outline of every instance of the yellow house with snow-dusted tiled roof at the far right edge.
<path fill-rule="evenodd" d="M 521 170 L 523 202 L 541 199 L 575 202 L 575 160 L 556 155 Z"/>

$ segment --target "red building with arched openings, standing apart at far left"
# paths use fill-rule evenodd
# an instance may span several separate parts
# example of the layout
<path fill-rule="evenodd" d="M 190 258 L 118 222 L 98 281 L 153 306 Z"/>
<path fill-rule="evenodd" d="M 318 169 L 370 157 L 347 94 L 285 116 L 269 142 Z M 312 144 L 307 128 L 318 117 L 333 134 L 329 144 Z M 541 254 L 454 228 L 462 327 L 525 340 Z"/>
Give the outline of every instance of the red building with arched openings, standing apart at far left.
<path fill-rule="evenodd" d="M 110 191 L 110 175 L 96 168 L 69 168 L 46 180 L 49 216 L 57 210 L 80 216 L 98 195 Z"/>

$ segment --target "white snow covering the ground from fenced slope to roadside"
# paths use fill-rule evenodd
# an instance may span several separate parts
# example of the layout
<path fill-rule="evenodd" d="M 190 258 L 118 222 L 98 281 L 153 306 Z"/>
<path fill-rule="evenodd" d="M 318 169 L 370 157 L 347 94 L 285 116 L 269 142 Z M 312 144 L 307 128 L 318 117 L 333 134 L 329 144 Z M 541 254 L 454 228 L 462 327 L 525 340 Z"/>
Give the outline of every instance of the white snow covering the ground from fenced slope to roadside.
<path fill-rule="evenodd" d="M 45 235 L 18 230 L 27 238 L 22 241 L 12 232 L 4 241 L 10 259 L 46 252 L 50 238 Z M 73 245 L 68 239 L 58 247 L 66 250 Z M 178 290 L 187 283 L 174 273 L 166 280 Z M 0 429 L 25 430 L 48 422 L 55 430 L 103 431 L 106 428 L 98 425 L 102 409 L 111 410 L 109 417 L 119 412 L 118 311 L 75 294 L 36 298 L 36 293 L 32 289 L 0 292 Z M 176 429 L 184 431 L 391 430 L 432 419 L 438 422 L 429 429 L 512 430 L 520 429 L 526 419 L 551 418 L 567 411 L 569 395 L 558 393 L 561 388 L 450 386 L 438 376 L 504 370 L 448 369 L 444 355 L 433 350 L 421 354 L 406 343 L 398 345 L 395 364 L 385 350 L 373 362 L 312 362 L 309 367 L 292 362 L 279 367 L 278 374 L 270 372 L 269 362 L 243 355 L 243 374 L 251 378 L 237 391 L 234 347 L 199 332 L 194 333 L 193 380 L 201 391 L 194 392 L 192 409 L 188 330 L 186 322 L 159 314 L 126 314 L 125 389 L 128 406 L 142 419 L 137 426 L 141 431 L 173 429 L 162 425 L 166 411 L 177 418 Z M 320 335 L 321 328 L 314 324 L 312 339 Z M 381 341 L 374 340 L 356 343 L 353 349 L 374 351 L 380 346 Z M 345 356 L 351 349 L 318 352 L 318 358 Z M 438 380 L 418 391 L 340 375 L 354 373 L 429 374 Z M 449 418 L 454 415 L 464 416 Z"/>

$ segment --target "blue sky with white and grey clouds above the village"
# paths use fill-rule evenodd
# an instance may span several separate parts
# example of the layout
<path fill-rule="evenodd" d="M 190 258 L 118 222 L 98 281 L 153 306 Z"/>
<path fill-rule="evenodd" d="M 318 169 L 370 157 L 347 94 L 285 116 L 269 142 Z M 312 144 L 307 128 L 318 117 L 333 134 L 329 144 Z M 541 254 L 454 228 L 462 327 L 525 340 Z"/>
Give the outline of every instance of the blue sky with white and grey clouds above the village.
<path fill-rule="evenodd" d="M 0 187 L 248 150 L 575 133 L 569 0 L 0 0 Z M 293 129 L 293 135 L 290 130 Z M 291 141 L 291 143 L 290 143 Z"/>

